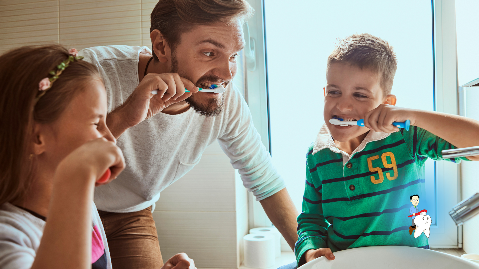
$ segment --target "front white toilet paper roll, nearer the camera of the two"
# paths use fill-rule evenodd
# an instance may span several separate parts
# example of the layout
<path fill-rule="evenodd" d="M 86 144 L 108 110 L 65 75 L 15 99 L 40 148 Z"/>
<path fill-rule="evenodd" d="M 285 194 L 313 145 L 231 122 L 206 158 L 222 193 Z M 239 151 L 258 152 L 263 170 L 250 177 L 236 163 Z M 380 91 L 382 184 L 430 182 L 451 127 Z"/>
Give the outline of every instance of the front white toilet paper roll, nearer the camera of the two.
<path fill-rule="evenodd" d="M 244 266 L 268 268 L 274 266 L 274 235 L 249 234 L 243 237 Z"/>

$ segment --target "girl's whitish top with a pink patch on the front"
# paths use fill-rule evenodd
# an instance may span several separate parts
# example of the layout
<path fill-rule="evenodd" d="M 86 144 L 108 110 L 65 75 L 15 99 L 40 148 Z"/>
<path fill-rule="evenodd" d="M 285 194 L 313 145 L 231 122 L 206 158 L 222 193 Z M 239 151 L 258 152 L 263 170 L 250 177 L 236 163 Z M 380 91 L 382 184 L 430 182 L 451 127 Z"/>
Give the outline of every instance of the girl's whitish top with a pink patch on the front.
<path fill-rule="evenodd" d="M 102 220 L 91 206 L 91 268 L 112 269 Z M 11 203 L 0 206 L 0 269 L 29 269 L 40 246 L 46 222 Z M 74 233 L 75 231 L 71 231 Z"/>

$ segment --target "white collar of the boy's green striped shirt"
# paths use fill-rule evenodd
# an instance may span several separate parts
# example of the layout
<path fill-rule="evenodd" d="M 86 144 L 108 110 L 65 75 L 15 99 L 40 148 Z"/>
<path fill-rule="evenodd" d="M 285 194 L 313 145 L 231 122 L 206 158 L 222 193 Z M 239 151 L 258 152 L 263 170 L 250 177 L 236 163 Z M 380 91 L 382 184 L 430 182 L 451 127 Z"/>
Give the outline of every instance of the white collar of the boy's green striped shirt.
<path fill-rule="evenodd" d="M 383 132 L 377 133 L 374 130 L 370 130 L 369 133 L 364 138 L 363 142 L 361 142 L 361 144 L 353 151 L 351 156 L 353 156 L 354 153 L 360 152 L 361 150 L 363 150 L 366 147 L 367 143 L 372 142 L 372 141 L 381 140 L 381 139 L 386 138 L 388 136 L 389 136 L 388 133 L 383 133 Z M 349 154 L 340 150 L 336 146 L 336 144 L 334 144 L 334 141 L 332 140 L 331 133 L 330 133 L 328 127 L 326 126 L 326 123 L 324 123 L 323 126 L 321 126 L 321 129 L 319 129 L 318 136 L 316 136 L 316 141 L 314 142 L 314 147 L 313 147 L 313 155 L 316 152 L 318 152 L 322 149 L 325 149 L 325 148 L 329 148 L 333 152 L 341 153 L 342 155 L 346 155 L 347 157 L 350 157 Z"/>

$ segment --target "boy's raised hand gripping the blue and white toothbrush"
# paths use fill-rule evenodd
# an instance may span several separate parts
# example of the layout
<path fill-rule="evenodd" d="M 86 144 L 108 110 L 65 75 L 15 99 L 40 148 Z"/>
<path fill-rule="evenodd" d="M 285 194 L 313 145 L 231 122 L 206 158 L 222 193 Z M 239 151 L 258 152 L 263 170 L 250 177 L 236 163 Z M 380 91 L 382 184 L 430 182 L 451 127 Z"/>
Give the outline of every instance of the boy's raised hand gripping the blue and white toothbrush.
<path fill-rule="evenodd" d="M 364 116 L 364 125 L 370 130 L 384 133 L 399 132 L 399 128 L 392 125 L 393 122 L 411 121 L 415 125 L 413 109 L 397 107 L 388 104 L 380 104 L 375 109 L 367 112 Z"/>

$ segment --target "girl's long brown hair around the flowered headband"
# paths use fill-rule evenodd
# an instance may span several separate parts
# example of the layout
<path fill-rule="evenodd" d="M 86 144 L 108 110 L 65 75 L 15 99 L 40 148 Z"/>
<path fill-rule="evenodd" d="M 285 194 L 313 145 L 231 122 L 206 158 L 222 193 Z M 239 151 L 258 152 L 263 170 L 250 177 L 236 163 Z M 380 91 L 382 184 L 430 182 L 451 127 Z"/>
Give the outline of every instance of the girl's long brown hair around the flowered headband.
<path fill-rule="evenodd" d="M 91 80 L 102 80 L 88 62 L 70 62 L 36 103 L 40 80 L 68 58 L 61 45 L 24 46 L 0 56 L 0 204 L 24 198 L 34 176 L 34 123 L 52 123 Z"/>

